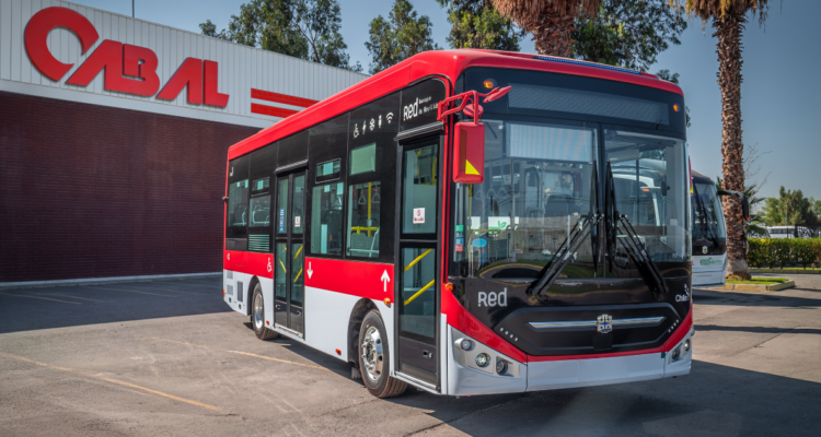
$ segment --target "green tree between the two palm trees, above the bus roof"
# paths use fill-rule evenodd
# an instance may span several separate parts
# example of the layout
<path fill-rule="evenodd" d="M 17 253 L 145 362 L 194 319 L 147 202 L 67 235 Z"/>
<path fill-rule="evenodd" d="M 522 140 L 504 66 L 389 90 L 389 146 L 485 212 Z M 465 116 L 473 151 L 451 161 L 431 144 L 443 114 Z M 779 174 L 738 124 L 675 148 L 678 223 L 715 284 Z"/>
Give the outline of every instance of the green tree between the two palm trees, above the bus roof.
<path fill-rule="evenodd" d="M 581 15 L 574 33 L 576 58 L 647 71 L 687 28 L 669 0 L 604 0 L 598 14 Z"/>

